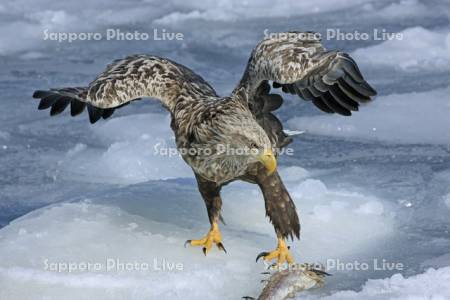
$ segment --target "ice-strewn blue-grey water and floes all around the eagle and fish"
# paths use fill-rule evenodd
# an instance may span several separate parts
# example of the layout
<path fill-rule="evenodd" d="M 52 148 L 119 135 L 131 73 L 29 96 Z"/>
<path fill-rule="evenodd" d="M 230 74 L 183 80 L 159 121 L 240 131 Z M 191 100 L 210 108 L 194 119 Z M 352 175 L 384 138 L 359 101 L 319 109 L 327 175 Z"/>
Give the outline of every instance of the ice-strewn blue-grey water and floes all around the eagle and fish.
<path fill-rule="evenodd" d="M 276 241 L 255 186 L 224 189 L 228 254 L 205 258 L 183 248 L 209 225 L 189 168 L 155 154 L 155 147 L 174 145 L 158 103 L 139 101 L 90 125 L 86 113 L 50 118 L 31 95 L 85 85 L 112 59 L 132 53 L 185 64 L 226 95 L 265 29 L 326 36 L 327 28 L 385 29 L 403 39 L 324 40 L 349 52 L 379 92 L 351 118 L 323 115 L 291 96 L 278 111 L 287 128 L 306 130 L 292 144 L 294 155 L 279 161 L 302 223 L 291 249 L 297 261 L 328 263 L 333 273 L 305 295 L 450 298 L 450 4 L 286 3 L 0 4 L 0 299 L 256 296 L 264 265 L 254 259 Z M 45 29 L 107 28 L 165 29 L 184 38 L 43 40 Z M 120 262 L 150 268 L 126 270 Z M 52 269 L 57 263 L 73 269 Z M 87 263 L 99 268 L 85 270 Z"/>

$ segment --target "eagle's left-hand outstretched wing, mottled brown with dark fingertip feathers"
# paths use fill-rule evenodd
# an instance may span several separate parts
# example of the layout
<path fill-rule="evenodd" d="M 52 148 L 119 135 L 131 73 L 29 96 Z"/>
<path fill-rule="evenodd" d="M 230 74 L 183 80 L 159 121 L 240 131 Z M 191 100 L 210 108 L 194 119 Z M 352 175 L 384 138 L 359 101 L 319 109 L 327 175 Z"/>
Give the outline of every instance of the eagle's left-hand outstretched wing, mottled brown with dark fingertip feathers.
<path fill-rule="evenodd" d="M 51 107 L 51 115 L 70 105 L 71 115 L 76 116 L 87 107 L 89 120 L 95 123 L 141 97 L 159 99 L 173 111 L 182 92 L 192 98 L 216 96 L 202 77 L 183 65 L 157 56 L 132 55 L 112 62 L 87 87 L 39 90 L 33 97 L 41 99 L 39 109 Z"/>

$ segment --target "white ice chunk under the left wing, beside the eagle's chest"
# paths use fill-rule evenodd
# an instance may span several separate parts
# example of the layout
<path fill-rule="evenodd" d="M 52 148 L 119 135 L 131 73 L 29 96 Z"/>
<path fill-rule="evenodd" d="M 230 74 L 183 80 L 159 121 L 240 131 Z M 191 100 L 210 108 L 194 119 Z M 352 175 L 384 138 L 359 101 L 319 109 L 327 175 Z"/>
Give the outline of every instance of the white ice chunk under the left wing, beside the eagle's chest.
<path fill-rule="evenodd" d="M 59 176 L 117 184 L 193 176 L 176 150 L 168 115 L 113 118 L 92 130 L 105 148 L 75 145 L 60 162 Z"/>

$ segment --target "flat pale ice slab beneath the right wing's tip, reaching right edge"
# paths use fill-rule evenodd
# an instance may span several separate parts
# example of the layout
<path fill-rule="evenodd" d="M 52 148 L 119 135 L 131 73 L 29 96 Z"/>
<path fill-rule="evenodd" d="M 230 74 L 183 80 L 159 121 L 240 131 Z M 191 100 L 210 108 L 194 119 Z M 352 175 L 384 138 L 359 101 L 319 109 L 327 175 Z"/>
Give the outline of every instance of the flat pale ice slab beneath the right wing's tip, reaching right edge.
<path fill-rule="evenodd" d="M 367 107 L 363 106 L 351 118 L 301 116 L 292 118 L 288 124 L 311 134 L 450 145 L 449 93 L 450 88 L 390 94 L 378 97 Z M 414 114 L 412 107 L 420 113 Z"/>

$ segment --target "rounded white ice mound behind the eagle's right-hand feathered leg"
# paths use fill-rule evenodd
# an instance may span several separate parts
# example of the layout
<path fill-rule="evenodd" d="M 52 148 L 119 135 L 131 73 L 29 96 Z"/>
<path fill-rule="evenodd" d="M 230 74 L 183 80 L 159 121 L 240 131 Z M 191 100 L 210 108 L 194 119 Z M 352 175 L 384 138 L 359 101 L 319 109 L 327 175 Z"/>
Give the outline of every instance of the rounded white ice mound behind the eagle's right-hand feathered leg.
<path fill-rule="evenodd" d="M 291 178 L 288 175 L 285 172 L 283 178 L 302 224 L 301 246 L 294 246 L 293 251 L 298 251 L 305 261 L 347 256 L 393 234 L 393 220 L 385 213 L 388 204 L 384 201 L 353 191 L 328 189 L 318 179 L 292 180 L 296 173 Z M 265 215 L 264 200 L 257 187 L 233 184 L 223 190 L 223 199 L 228 226 L 261 234 L 273 231 L 268 222 L 261 220 Z"/>

